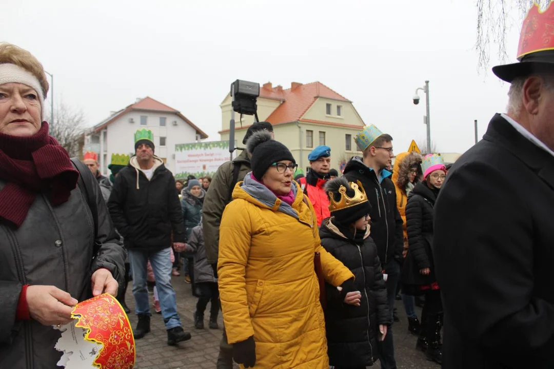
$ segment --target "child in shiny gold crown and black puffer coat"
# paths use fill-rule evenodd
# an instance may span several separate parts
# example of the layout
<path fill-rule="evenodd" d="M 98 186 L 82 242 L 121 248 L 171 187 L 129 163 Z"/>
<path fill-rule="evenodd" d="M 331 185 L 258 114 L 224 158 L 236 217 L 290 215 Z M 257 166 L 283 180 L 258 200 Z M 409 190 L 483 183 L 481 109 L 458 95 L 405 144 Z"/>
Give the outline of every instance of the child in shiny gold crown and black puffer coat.
<path fill-rule="evenodd" d="M 344 177 L 329 181 L 331 217 L 320 228 L 321 245 L 356 277 L 355 292 L 344 300 L 326 284 L 325 325 L 329 363 L 335 369 L 365 368 L 377 360 L 377 341 L 387 335 L 391 314 L 377 246 L 370 237 L 371 205 L 359 183 Z M 355 300 L 356 305 L 348 305 Z"/>

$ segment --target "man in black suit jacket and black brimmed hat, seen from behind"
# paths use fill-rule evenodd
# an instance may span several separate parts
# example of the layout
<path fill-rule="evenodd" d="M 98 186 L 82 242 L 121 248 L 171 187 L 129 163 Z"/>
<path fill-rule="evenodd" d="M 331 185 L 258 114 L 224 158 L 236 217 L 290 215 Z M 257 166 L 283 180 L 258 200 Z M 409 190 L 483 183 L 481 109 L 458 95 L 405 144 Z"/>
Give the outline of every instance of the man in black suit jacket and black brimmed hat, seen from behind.
<path fill-rule="evenodd" d="M 445 369 L 554 367 L 554 52 L 525 50 L 540 37 L 529 29 L 520 63 L 493 69 L 511 82 L 507 114 L 454 164 L 435 205 Z"/>

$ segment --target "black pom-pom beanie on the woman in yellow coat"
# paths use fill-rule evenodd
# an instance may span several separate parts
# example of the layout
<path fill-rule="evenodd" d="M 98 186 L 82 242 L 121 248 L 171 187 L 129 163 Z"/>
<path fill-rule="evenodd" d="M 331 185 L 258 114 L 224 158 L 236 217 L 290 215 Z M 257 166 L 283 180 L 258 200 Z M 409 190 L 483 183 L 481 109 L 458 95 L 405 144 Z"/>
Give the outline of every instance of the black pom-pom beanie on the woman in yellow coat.
<path fill-rule="evenodd" d="M 250 158 L 250 167 L 257 180 L 261 180 L 265 172 L 273 163 L 281 160 L 290 160 L 296 163 L 293 154 L 286 146 L 271 138 L 267 131 L 259 131 L 252 134 L 246 144 L 246 149 L 252 158 Z"/>

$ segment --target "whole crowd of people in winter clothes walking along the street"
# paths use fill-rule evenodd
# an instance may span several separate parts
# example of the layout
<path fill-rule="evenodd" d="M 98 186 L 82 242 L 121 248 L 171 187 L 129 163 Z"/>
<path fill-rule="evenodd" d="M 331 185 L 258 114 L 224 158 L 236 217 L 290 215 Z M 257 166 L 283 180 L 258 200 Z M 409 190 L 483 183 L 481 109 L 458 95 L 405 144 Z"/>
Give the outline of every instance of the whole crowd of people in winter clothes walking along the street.
<path fill-rule="evenodd" d="M 493 69 L 511 83 L 507 113 L 452 167 L 395 158 L 371 124 L 343 173 L 320 146 L 304 176 L 256 122 L 213 178 L 186 180 L 145 128 L 108 177 L 95 153 L 69 158 L 44 121 L 42 65 L 0 43 L 0 367 L 55 367 L 52 325 L 101 293 L 129 311 L 131 280 L 137 340 L 152 308 L 168 345 L 191 339 L 172 283 L 191 284 L 195 329 L 208 304 L 209 329 L 222 311 L 217 368 L 394 369 L 397 295 L 414 350 L 445 368 L 553 367 L 554 54 L 527 41 Z"/>

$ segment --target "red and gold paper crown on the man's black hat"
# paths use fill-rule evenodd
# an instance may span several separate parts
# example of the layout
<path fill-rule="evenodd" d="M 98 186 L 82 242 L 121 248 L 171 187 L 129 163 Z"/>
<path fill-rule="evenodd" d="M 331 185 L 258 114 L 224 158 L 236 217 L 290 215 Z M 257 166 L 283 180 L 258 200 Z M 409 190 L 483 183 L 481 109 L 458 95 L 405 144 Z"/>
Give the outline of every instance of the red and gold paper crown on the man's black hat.
<path fill-rule="evenodd" d="M 527 54 L 537 51 L 554 50 L 554 6 L 551 1 L 545 11 L 541 12 L 534 3 L 521 27 L 520 41 L 517 48 L 517 60 L 521 61 Z"/>

